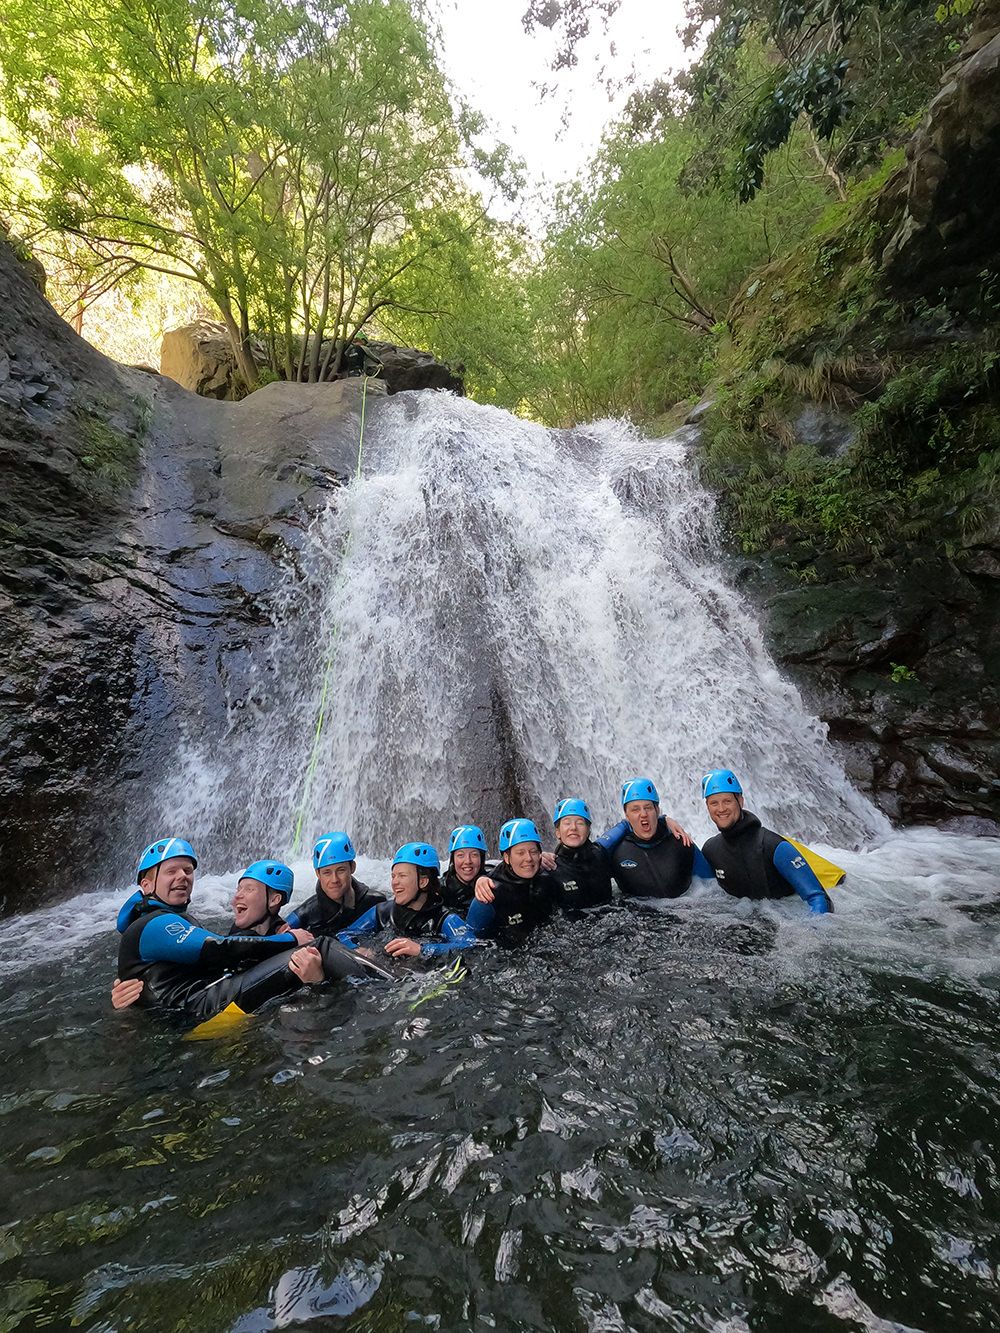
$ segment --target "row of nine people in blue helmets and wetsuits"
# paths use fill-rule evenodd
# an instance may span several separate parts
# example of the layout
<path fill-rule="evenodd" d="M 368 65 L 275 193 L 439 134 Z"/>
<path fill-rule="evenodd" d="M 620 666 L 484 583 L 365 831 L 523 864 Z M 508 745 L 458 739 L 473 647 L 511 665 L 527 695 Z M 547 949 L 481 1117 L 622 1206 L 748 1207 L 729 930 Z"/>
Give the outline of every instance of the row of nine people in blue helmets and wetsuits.
<path fill-rule="evenodd" d="M 392 860 L 391 897 L 355 878 L 357 854 L 345 832 L 316 841 L 311 898 L 289 910 L 293 873 L 276 860 L 255 861 L 240 876 L 228 934 L 188 913 L 197 856 L 184 838 L 147 846 L 137 889 L 117 917 L 121 934 L 116 1009 L 133 1004 L 179 1010 L 199 1022 L 228 1010 L 252 1013 L 304 985 L 391 974 L 371 945 L 391 958 L 433 960 L 483 941 L 523 944 L 556 912 L 605 908 L 613 882 L 625 898 L 677 898 L 693 878 L 715 878 L 740 898 L 797 894 L 812 913 L 832 912 L 827 892 L 797 844 L 761 825 L 744 804 L 731 769 L 701 778 L 716 834 L 704 846 L 660 812 L 648 777 L 621 784 L 623 820 L 593 838 L 593 817 L 580 797 L 553 812 L 556 846 L 528 818 L 500 829 L 497 861 L 483 830 L 456 828 L 441 873 L 428 842 L 405 842 Z"/>

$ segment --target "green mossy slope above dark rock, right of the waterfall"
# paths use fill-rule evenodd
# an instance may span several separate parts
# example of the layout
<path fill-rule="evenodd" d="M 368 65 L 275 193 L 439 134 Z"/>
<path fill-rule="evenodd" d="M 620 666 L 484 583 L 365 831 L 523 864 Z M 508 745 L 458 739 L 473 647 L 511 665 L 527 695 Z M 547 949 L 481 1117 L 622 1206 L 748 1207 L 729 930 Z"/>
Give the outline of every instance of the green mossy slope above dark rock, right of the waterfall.
<path fill-rule="evenodd" d="M 747 552 L 928 540 L 949 553 L 1000 527 L 1000 277 L 980 275 L 972 304 L 884 289 L 883 192 L 897 168 L 829 209 L 731 312 L 703 449 Z M 808 401 L 853 417 L 840 456 L 796 440 Z"/>

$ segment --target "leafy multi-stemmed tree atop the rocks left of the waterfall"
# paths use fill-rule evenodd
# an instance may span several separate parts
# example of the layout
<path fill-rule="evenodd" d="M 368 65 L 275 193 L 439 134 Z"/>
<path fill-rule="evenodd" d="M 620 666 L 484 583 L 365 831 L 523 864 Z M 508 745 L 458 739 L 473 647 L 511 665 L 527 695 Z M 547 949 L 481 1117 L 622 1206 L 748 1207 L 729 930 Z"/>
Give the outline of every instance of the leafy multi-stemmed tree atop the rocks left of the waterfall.
<path fill-rule="evenodd" d="M 273 373 L 336 375 L 431 261 L 465 161 L 403 0 L 8 0 L 0 75 L 33 152 L 35 188 L 7 181 L 20 229 L 76 239 L 91 283 L 200 287 L 248 385 L 257 333 Z"/>

